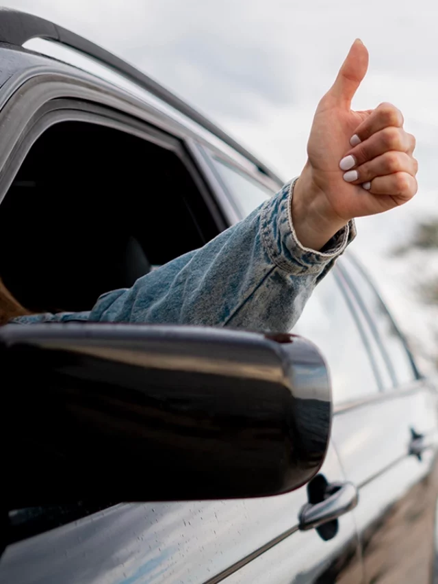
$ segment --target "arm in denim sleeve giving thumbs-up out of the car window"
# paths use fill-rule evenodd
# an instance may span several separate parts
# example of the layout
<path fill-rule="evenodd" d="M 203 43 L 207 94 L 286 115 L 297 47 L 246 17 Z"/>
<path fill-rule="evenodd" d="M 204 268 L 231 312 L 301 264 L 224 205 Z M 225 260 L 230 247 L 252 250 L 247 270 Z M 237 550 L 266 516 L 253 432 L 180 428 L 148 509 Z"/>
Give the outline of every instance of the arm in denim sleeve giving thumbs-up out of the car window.
<path fill-rule="evenodd" d="M 382 212 L 415 194 L 415 142 L 402 129 L 400 112 L 394 106 L 350 110 L 367 66 L 368 52 L 355 42 L 318 105 L 308 160 L 293 192 L 285 186 L 202 249 L 140 278 L 129 290 L 104 294 L 91 312 L 20 322 L 110 320 L 288 330 L 354 236 L 352 218 Z M 353 147 L 352 136 L 360 137 Z M 354 157 L 355 181 L 348 182 L 346 169 L 339 167 L 346 155 Z M 381 164 L 382 156 L 392 166 Z"/>

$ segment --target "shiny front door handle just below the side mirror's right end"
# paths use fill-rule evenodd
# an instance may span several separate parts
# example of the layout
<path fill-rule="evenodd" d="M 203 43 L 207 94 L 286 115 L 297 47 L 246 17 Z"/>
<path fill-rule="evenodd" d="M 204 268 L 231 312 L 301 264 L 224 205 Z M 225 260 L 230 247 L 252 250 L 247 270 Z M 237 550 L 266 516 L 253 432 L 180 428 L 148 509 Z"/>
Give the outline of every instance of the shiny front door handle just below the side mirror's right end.
<path fill-rule="evenodd" d="M 359 501 L 359 493 L 352 483 L 331 483 L 327 487 L 326 496 L 320 503 L 307 503 L 300 511 L 301 531 L 315 529 L 320 525 L 333 521 L 355 509 Z"/>

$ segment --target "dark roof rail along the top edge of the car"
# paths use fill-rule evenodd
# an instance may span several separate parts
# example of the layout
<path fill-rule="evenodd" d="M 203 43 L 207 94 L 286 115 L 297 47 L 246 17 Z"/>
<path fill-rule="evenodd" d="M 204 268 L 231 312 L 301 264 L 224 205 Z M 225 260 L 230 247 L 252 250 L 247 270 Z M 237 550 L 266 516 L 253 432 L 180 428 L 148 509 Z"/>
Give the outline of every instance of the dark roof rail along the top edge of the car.
<path fill-rule="evenodd" d="M 243 163 L 244 166 L 248 166 L 249 162 L 254 170 L 258 170 L 270 181 L 276 184 L 283 182 L 242 144 L 155 79 L 63 27 L 26 12 L 0 8 L 0 42 L 11 45 L 12 49 L 24 45 L 25 49 L 33 49 L 32 52 L 66 62 L 107 81 L 118 90 L 134 94 L 178 125 L 203 138 L 212 147 L 229 157 L 237 158 L 236 162 Z"/>

